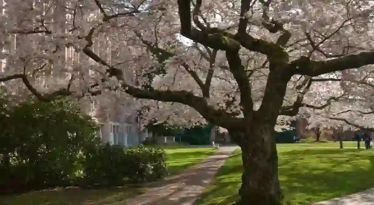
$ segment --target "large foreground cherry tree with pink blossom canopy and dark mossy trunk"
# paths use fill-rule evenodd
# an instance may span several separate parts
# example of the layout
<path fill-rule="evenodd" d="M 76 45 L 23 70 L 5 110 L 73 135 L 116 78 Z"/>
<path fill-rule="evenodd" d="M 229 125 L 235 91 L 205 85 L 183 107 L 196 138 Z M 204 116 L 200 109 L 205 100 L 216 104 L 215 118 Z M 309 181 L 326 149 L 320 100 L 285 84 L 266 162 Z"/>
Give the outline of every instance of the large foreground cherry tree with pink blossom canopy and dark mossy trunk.
<path fill-rule="evenodd" d="M 369 0 L 4 2 L 7 95 L 116 95 L 145 118 L 223 127 L 242 149 L 238 204 L 281 204 L 274 126 L 344 122 L 374 64 Z"/>

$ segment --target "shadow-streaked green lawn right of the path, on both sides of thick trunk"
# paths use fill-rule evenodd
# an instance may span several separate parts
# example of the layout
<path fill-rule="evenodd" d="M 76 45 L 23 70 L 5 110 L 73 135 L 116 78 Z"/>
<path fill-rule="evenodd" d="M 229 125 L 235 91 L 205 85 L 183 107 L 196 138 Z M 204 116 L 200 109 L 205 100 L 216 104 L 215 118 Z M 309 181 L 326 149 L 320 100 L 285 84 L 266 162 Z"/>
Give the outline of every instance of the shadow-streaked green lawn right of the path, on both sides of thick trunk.
<path fill-rule="evenodd" d="M 339 143 L 325 143 L 338 147 Z M 334 146 L 331 146 L 334 145 Z M 336 146 L 337 145 L 337 146 Z M 304 147 L 317 148 L 304 148 Z M 322 143 L 279 144 L 279 179 L 285 204 L 310 205 L 374 187 L 374 149 L 323 148 Z M 238 199 L 241 185 L 240 150 L 225 162 L 214 184 L 205 190 L 196 205 L 229 205 Z"/>

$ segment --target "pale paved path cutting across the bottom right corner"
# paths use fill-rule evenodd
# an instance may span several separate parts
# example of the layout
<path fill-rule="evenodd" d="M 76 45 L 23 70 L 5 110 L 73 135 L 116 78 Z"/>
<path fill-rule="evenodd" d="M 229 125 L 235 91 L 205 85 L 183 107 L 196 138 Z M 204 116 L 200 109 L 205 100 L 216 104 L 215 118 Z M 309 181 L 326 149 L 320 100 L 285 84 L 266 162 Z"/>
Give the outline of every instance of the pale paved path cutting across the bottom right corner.
<path fill-rule="evenodd" d="M 374 205 L 374 188 L 312 205 Z"/>

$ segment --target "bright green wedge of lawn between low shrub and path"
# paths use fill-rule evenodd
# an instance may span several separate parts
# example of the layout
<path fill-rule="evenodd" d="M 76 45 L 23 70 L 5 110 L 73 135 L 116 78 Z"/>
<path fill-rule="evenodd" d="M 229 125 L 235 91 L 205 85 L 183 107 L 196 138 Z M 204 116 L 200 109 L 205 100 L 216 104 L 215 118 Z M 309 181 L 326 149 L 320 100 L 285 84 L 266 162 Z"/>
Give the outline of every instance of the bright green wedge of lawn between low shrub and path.
<path fill-rule="evenodd" d="M 166 149 L 169 173 L 178 174 L 184 169 L 191 167 L 214 154 L 217 149 L 213 148 L 180 148 Z"/>

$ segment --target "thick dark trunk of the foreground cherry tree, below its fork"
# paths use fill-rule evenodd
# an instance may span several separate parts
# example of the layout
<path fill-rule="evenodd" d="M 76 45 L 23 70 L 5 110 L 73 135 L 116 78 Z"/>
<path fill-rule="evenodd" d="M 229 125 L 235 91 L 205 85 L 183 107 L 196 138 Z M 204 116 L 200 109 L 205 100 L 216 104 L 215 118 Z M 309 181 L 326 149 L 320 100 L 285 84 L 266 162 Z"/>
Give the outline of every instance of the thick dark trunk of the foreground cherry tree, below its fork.
<path fill-rule="evenodd" d="M 241 133 L 243 140 L 239 145 L 244 170 L 237 204 L 281 205 L 275 138 L 269 130 L 258 131 L 251 136 Z"/>

